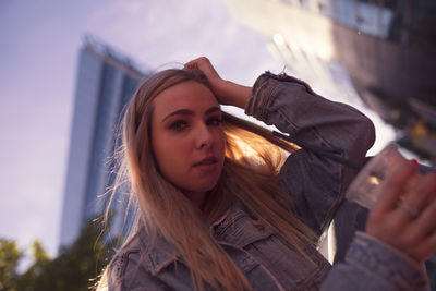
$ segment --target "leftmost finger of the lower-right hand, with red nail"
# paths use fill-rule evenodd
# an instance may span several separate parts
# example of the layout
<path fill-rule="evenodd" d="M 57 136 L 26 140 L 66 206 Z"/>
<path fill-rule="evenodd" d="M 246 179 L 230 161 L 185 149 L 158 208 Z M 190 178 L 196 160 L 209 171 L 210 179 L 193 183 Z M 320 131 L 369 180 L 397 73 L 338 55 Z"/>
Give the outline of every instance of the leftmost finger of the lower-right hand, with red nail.
<path fill-rule="evenodd" d="M 377 190 L 379 195 L 373 210 L 385 213 L 395 209 L 409 179 L 416 173 L 416 161 L 411 160 L 389 174 Z"/>

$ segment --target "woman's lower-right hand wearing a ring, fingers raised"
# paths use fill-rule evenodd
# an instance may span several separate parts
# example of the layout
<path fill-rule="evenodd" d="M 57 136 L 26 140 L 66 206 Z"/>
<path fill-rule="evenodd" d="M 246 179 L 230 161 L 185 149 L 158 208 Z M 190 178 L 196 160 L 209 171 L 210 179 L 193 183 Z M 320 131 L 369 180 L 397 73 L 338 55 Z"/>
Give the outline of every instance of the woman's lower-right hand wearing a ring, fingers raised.
<path fill-rule="evenodd" d="M 404 162 L 378 187 L 366 232 L 417 264 L 436 253 L 436 173 L 417 177 L 417 165 Z"/>

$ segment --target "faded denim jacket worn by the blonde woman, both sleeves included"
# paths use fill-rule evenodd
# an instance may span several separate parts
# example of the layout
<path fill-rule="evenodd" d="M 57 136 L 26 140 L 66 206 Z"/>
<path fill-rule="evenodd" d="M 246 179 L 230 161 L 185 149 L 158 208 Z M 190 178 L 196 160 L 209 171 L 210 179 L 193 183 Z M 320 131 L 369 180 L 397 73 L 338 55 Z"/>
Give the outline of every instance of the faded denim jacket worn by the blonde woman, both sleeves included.
<path fill-rule="evenodd" d="M 354 108 L 316 95 L 308 85 L 269 72 L 253 86 L 245 113 L 305 144 L 363 162 L 375 134 L 373 123 Z M 329 226 L 355 172 L 301 148 L 280 170 L 281 187 L 299 217 L 320 235 Z M 316 251 L 302 258 L 264 228 L 235 201 L 210 230 L 244 272 L 253 290 L 425 290 L 426 276 L 396 250 L 358 232 L 344 260 L 330 266 Z M 147 247 L 148 246 L 148 247 Z M 190 269 L 161 238 L 148 245 L 138 233 L 108 267 L 109 290 L 193 290 Z M 211 290 L 206 284 L 206 290 Z"/>

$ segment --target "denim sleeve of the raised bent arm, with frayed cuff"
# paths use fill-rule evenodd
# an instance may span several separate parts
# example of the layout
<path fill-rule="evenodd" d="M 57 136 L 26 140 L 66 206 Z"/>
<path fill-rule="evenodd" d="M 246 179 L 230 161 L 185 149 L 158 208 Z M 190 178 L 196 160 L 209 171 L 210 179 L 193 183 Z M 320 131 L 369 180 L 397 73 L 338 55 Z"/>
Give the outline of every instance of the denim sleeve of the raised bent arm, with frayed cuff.
<path fill-rule="evenodd" d="M 295 141 L 361 165 L 375 140 L 374 125 L 356 109 L 316 95 L 302 81 L 286 74 L 261 75 L 245 113 Z M 294 214 L 318 235 L 329 226 L 355 170 L 301 148 L 280 171 L 280 185 L 293 202 Z"/>

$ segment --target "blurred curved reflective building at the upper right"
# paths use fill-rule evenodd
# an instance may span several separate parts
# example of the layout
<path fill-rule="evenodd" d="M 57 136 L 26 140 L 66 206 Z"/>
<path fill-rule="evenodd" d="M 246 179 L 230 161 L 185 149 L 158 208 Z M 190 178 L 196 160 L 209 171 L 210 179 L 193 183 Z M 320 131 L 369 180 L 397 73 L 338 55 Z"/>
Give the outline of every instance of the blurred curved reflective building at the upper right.
<path fill-rule="evenodd" d="M 296 76 L 353 106 L 356 93 L 395 126 L 397 143 L 436 165 L 436 1 L 227 3 L 238 20 L 267 36 Z"/>

